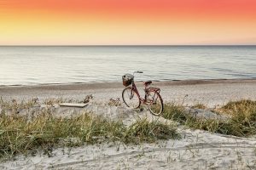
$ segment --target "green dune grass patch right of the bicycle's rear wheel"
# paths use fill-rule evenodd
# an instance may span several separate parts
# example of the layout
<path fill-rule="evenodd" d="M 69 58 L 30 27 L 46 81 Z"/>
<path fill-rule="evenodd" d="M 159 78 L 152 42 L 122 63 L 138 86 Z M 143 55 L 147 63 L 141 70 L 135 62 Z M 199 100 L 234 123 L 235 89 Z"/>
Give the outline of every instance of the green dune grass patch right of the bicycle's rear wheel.
<path fill-rule="evenodd" d="M 195 118 L 184 111 L 182 105 L 167 104 L 163 117 L 187 127 L 239 137 L 256 134 L 256 102 L 251 100 L 230 101 L 218 111 L 231 115 L 229 120 Z"/>

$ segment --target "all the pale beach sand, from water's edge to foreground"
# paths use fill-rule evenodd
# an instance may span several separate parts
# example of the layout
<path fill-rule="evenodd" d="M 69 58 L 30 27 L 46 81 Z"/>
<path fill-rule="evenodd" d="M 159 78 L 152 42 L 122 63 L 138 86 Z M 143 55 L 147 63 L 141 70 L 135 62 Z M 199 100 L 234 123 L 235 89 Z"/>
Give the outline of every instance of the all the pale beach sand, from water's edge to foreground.
<path fill-rule="evenodd" d="M 204 80 L 154 82 L 161 88 L 165 102 L 183 105 L 224 105 L 237 99 L 256 99 L 256 80 Z M 132 111 L 124 105 L 109 106 L 109 99 L 121 98 L 124 87 L 120 83 L 94 83 L 74 85 L 47 85 L 36 87 L 2 87 L 3 99 L 68 98 L 84 99 L 94 96 L 85 110 L 98 115 L 121 119 L 131 124 L 135 116 L 159 119 L 147 110 Z M 142 91 L 143 87 L 139 87 Z M 187 97 L 185 97 L 187 96 Z M 79 114 L 72 109 L 55 108 L 56 113 Z M 164 118 L 160 121 L 166 122 Z M 169 122 L 172 123 L 172 122 Z M 78 148 L 57 148 L 49 157 L 42 151 L 36 156 L 17 156 L 13 161 L 3 161 L 0 169 L 256 169 L 256 138 L 208 133 L 178 127 L 180 140 L 165 140 L 154 144 L 124 145 L 97 144 Z"/>

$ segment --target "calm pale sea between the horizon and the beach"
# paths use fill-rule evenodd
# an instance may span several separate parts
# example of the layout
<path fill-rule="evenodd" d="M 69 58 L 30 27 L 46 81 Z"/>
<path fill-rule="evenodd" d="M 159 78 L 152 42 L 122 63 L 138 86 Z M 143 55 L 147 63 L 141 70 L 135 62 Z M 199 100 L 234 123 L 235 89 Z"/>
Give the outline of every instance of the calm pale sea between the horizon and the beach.
<path fill-rule="evenodd" d="M 0 47 L 0 85 L 256 77 L 256 46 Z"/>

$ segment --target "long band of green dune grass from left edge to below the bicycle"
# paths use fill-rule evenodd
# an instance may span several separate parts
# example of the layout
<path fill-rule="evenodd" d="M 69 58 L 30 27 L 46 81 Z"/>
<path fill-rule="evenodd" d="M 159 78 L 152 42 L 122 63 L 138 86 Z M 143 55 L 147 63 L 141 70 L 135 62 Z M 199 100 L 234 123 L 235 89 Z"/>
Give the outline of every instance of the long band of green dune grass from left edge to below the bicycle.
<path fill-rule="evenodd" d="M 52 105 L 52 102 L 48 102 Z M 38 111 L 36 116 L 21 116 L 11 110 L 27 107 L 24 102 L 4 102 L 0 114 L 0 157 L 12 158 L 17 154 L 32 154 L 35 150 L 50 151 L 56 147 L 73 147 L 83 144 L 116 143 L 140 144 L 158 139 L 179 139 L 172 125 L 137 119 L 127 127 L 122 121 L 112 121 L 105 116 L 81 113 L 78 116 L 53 116 L 50 111 Z"/>

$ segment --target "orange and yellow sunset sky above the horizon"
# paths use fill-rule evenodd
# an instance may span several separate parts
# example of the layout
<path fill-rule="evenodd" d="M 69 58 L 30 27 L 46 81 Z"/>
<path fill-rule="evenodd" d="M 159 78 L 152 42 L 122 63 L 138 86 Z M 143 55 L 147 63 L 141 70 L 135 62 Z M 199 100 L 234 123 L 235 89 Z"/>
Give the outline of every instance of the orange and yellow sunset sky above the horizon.
<path fill-rule="evenodd" d="M 0 0 L 0 45 L 256 44 L 256 0 Z"/>

